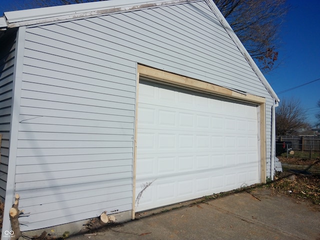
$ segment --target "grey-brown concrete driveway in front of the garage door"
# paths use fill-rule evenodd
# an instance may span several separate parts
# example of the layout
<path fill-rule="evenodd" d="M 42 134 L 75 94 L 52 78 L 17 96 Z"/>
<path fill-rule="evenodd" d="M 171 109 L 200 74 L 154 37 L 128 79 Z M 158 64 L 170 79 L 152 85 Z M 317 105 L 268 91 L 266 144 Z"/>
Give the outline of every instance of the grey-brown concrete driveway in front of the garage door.
<path fill-rule="evenodd" d="M 175 208 L 176 206 L 181 206 Z M 315 239 L 320 206 L 257 188 L 207 202 L 182 202 L 172 210 L 141 213 L 140 219 L 105 227 L 75 239 Z"/>

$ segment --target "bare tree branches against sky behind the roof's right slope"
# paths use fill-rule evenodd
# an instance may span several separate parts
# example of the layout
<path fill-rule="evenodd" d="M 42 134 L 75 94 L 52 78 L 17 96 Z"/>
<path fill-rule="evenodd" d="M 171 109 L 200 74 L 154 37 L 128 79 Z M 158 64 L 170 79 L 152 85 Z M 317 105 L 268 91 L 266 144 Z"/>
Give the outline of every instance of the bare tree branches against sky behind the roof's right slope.
<path fill-rule="evenodd" d="M 214 0 L 233 31 L 264 72 L 278 58 L 278 32 L 288 6 L 285 0 Z"/>

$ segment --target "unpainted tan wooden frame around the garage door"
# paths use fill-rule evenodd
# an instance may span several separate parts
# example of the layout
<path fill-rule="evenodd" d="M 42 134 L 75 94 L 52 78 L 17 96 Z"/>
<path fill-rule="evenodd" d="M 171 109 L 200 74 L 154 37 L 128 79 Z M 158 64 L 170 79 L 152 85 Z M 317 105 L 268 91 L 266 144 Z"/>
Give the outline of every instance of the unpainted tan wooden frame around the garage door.
<path fill-rule="evenodd" d="M 224 98 L 233 99 L 237 101 L 254 103 L 257 105 L 257 120 L 258 120 L 258 153 L 260 158 L 260 182 L 266 182 L 266 134 L 265 134 L 265 98 L 248 93 L 241 93 L 235 90 L 228 89 L 226 87 L 218 86 L 209 82 L 197 80 L 194 78 L 174 74 L 171 72 L 163 71 L 153 67 L 149 67 L 142 64 L 137 64 L 136 75 L 136 99 L 135 99 L 135 125 L 134 125 L 134 153 L 133 153 L 133 187 L 132 187 L 132 212 L 131 219 L 134 219 L 135 215 L 135 179 L 136 179 L 136 132 L 138 121 L 138 88 L 139 79 L 141 77 L 147 78 L 150 81 L 172 85 L 180 88 L 185 88 L 197 92 L 208 93 L 216 96 L 222 96 Z"/>

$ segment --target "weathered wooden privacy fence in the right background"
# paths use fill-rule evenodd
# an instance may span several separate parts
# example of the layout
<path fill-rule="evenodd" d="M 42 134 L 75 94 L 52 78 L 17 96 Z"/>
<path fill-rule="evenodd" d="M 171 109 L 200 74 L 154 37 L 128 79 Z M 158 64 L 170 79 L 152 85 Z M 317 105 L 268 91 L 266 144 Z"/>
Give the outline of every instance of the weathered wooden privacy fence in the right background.
<path fill-rule="evenodd" d="M 291 142 L 292 150 L 320 151 L 320 136 L 276 136 L 276 144 Z"/>

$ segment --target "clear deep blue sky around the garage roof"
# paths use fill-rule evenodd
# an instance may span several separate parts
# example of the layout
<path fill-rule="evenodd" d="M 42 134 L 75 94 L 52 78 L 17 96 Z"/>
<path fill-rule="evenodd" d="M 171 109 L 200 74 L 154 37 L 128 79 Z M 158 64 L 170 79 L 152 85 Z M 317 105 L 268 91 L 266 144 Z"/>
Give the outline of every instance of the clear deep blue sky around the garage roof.
<path fill-rule="evenodd" d="M 20 4 L 18 3 L 20 2 Z M 0 0 L 3 11 L 16 10 L 31 0 Z M 290 10 L 281 26 L 278 66 L 265 74 L 273 90 L 280 91 L 320 78 L 320 9 L 319 0 L 287 0 Z M 278 94 L 281 99 L 298 99 L 306 109 L 306 117 L 313 126 L 320 123 L 315 112 L 320 112 L 320 80 Z"/>

